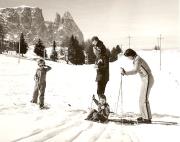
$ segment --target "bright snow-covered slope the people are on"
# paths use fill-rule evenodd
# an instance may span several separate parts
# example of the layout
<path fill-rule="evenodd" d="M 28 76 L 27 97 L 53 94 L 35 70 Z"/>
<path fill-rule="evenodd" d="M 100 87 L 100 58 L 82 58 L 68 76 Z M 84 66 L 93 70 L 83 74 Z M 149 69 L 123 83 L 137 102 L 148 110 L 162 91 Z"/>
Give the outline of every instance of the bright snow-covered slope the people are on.
<path fill-rule="evenodd" d="M 155 84 L 150 94 L 153 120 L 180 123 L 179 51 L 163 51 L 162 71 L 156 51 L 138 52 L 151 66 Z M 31 54 L 27 56 L 33 57 Z M 33 57 L 34 58 L 34 57 Z M 45 103 L 48 110 L 31 104 L 36 61 L 0 55 L 0 141 L 2 142 L 179 142 L 180 126 L 161 124 L 121 125 L 85 121 L 96 94 L 96 71 L 93 65 L 73 66 L 46 61 L 52 70 L 47 74 Z M 132 64 L 123 56 L 110 64 L 106 96 L 111 111 L 116 111 L 120 87 L 120 67 Z M 139 113 L 139 76 L 122 78 L 123 106 L 117 113 Z M 92 107 L 95 107 L 93 104 Z M 123 108 L 121 108 L 123 107 Z"/>

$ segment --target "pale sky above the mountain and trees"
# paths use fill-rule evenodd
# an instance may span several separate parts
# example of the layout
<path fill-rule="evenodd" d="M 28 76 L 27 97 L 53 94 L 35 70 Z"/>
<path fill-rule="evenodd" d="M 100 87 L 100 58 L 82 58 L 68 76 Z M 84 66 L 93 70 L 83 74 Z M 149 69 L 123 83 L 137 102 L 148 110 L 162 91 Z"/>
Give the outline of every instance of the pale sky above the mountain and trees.
<path fill-rule="evenodd" d="M 0 0 L 0 7 L 27 5 L 43 10 L 45 20 L 69 11 L 84 38 L 98 36 L 106 46 L 151 48 L 160 34 L 162 46 L 179 47 L 178 0 Z"/>

